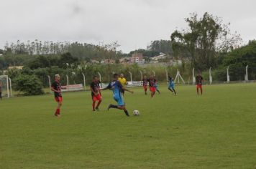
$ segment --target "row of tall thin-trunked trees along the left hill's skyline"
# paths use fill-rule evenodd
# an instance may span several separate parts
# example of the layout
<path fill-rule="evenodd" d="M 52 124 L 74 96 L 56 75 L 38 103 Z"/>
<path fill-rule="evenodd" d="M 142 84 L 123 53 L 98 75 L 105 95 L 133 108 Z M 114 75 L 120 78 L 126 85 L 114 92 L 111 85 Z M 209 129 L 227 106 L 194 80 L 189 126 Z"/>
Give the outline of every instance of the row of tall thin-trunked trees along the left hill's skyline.
<path fill-rule="evenodd" d="M 117 42 L 111 44 L 86 44 L 78 42 L 52 42 L 35 39 L 35 41 L 20 42 L 19 40 L 9 44 L 6 42 L 4 46 L 4 52 L 12 54 L 29 54 L 29 55 L 47 55 L 47 54 L 63 54 L 70 52 L 74 57 L 78 58 L 104 58 L 111 54 L 111 57 L 115 57 L 119 54 L 117 50 L 119 44 Z M 103 57 L 104 56 L 104 57 Z"/>

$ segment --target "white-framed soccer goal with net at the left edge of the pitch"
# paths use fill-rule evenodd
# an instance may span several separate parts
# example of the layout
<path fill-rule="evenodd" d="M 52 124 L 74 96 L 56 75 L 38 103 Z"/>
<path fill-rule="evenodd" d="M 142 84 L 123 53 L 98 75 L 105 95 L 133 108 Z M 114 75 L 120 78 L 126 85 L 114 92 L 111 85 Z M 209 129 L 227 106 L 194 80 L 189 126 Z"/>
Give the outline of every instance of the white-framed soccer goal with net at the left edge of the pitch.
<path fill-rule="evenodd" d="M 12 80 L 7 75 L 0 75 L 2 97 L 12 97 Z"/>

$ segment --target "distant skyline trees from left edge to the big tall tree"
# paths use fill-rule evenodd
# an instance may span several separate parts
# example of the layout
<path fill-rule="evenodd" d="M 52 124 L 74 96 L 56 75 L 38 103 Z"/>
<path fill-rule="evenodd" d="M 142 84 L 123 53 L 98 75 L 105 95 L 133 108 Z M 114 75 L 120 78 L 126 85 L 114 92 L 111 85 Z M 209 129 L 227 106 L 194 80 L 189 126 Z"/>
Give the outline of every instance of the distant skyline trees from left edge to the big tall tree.
<path fill-rule="evenodd" d="M 29 55 L 47 55 L 47 54 L 63 54 L 70 52 L 74 57 L 78 58 L 91 58 L 91 59 L 104 59 L 113 57 L 131 57 L 134 52 L 140 52 L 145 57 L 154 57 L 160 52 L 168 55 L 173 54 L 172 42 L 170 40 L 155 40 L 150 42 L 147 49 L 137 49 L 129 52 L 129 54 L 123 54 L 117 50 L 119 44 L 113 42 L 111 44 L 86 44 L 78 42 L 52 42 L 35 39 L 35 41 L 20 42 L 19 40 L 14 43 L 6 42 L 4 50 L 0 53 L 10 52 L 12 54 L 29 54 Z M 110 54 L 111 56 L 107 56 Z M 103 57 L 104 56 L 104 57 Z"/>

